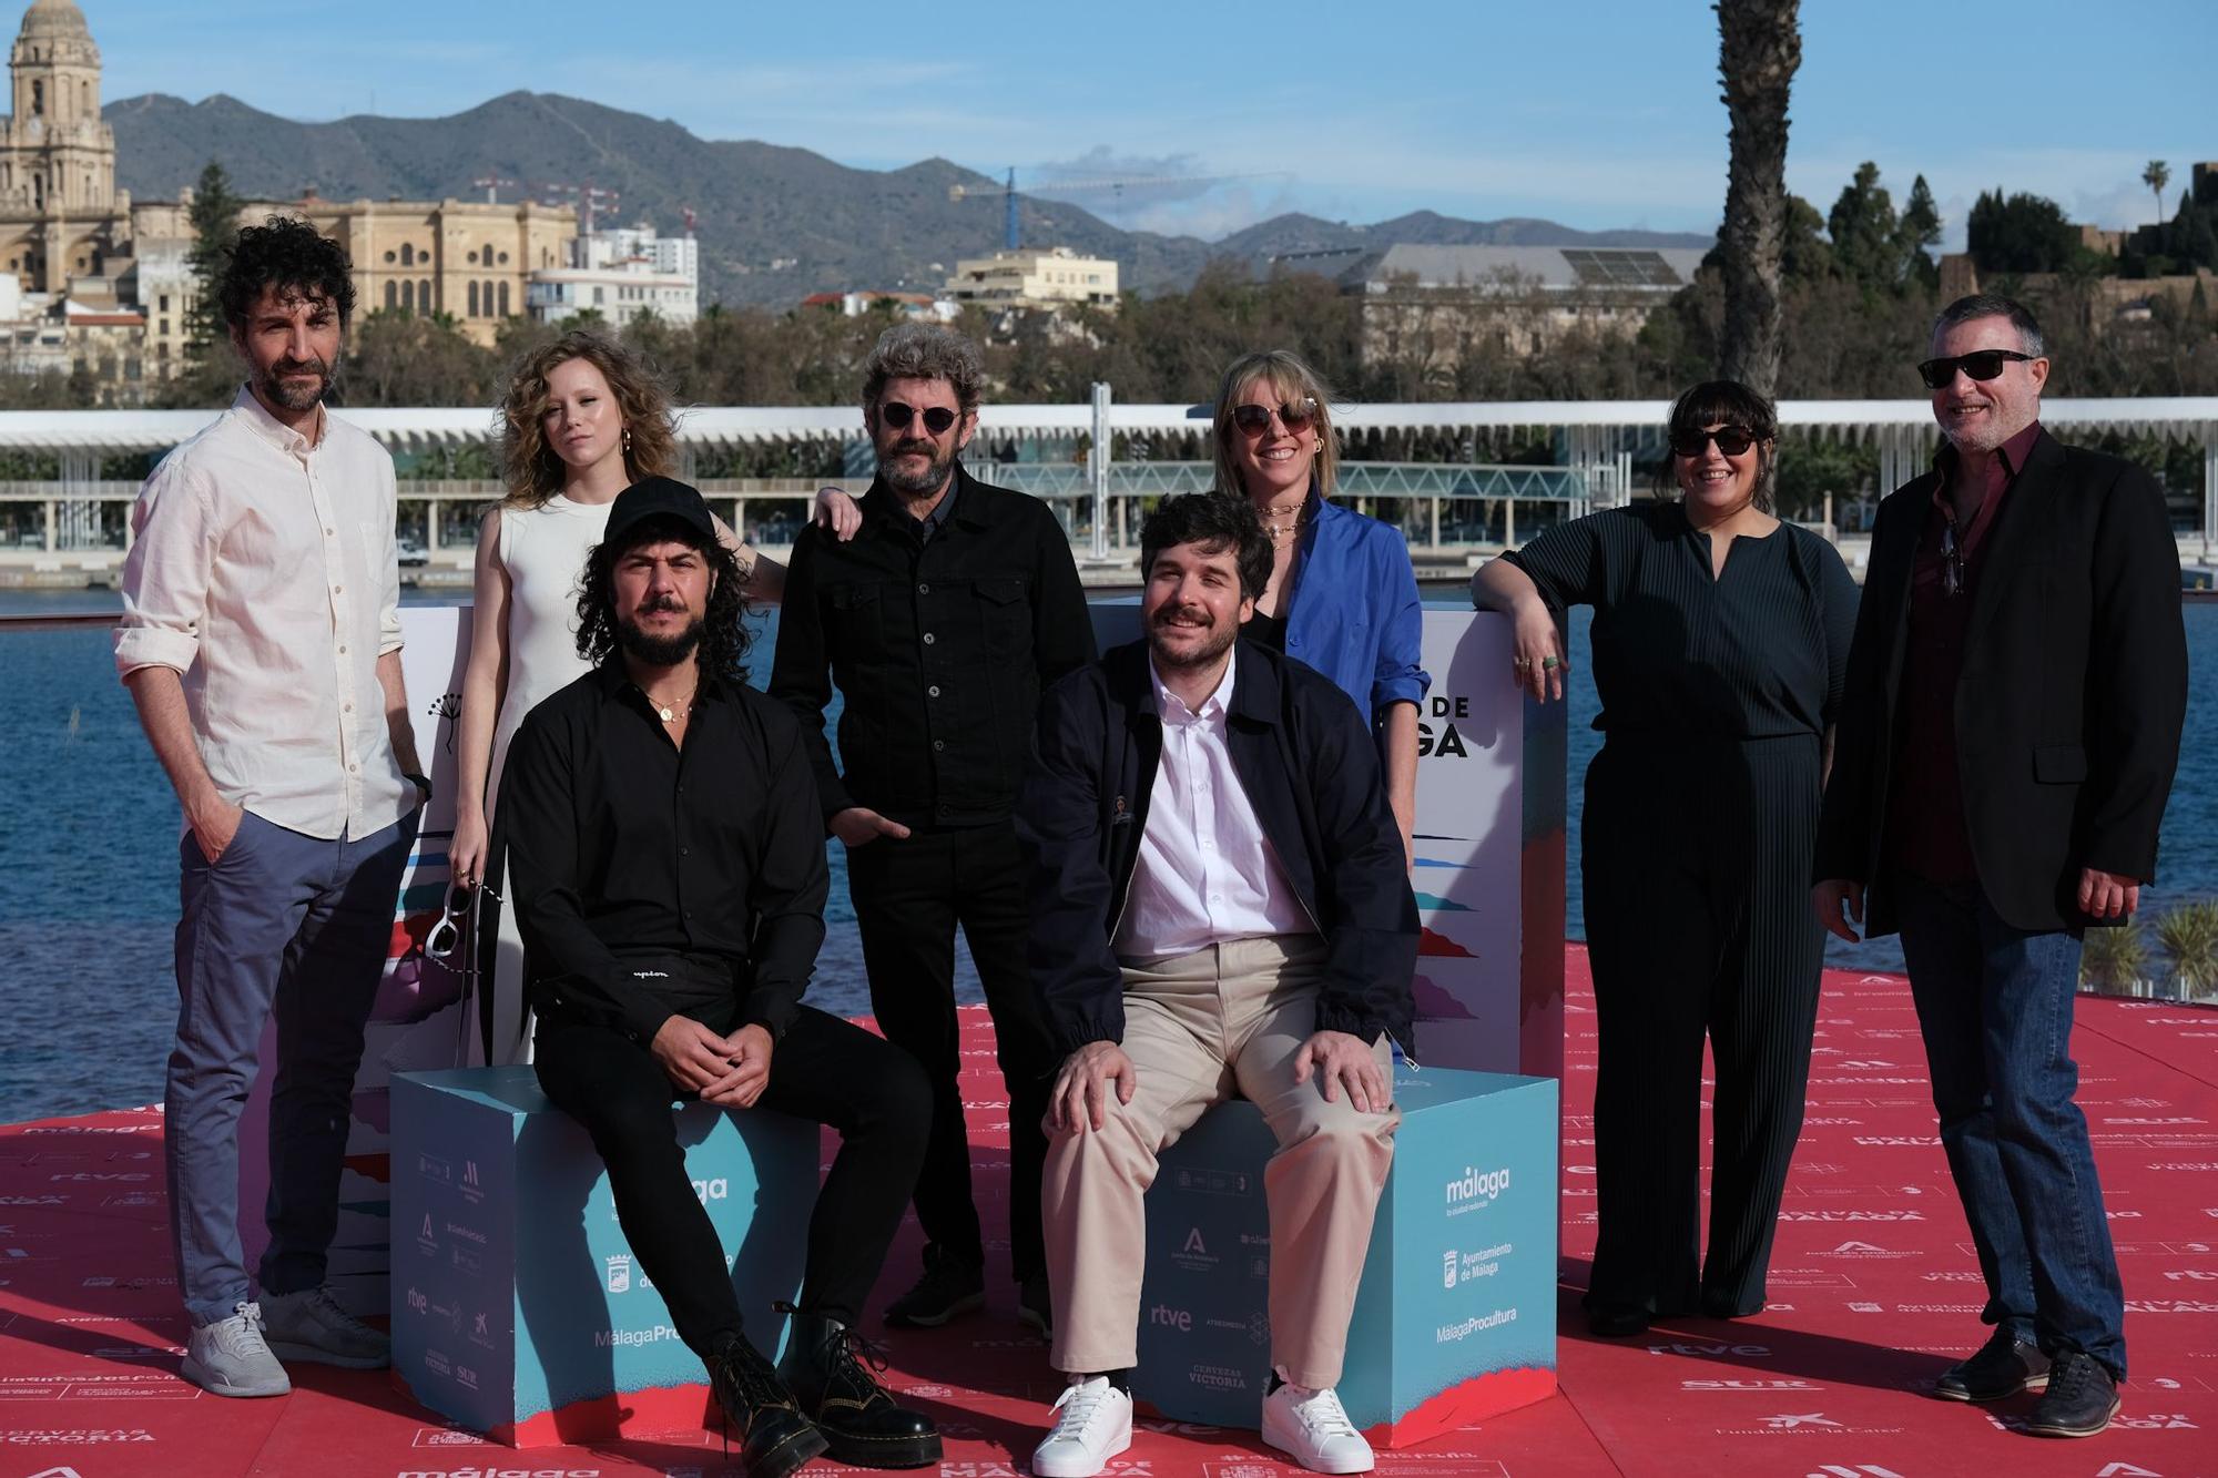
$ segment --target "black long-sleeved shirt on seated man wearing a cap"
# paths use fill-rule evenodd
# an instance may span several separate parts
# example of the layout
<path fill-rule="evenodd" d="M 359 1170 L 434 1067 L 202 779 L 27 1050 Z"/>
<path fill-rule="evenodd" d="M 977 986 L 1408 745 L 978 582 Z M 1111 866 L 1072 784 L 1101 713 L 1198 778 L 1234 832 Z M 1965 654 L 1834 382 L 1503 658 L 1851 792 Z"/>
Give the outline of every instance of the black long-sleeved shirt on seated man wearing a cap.
<path fill-rule="evenodd" d="M 501 834 L 532 1003 L 650 1041 L 699 968 L 781 1036 L 825 937 L 823 819 L 794 717 L 703 677 L 685 748 L 612 657 L 523 719 Z M 692 970 L 634 976 L 643 956 Z M 690 1012 L 688 1012 L 690 1014 Z"/>

